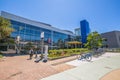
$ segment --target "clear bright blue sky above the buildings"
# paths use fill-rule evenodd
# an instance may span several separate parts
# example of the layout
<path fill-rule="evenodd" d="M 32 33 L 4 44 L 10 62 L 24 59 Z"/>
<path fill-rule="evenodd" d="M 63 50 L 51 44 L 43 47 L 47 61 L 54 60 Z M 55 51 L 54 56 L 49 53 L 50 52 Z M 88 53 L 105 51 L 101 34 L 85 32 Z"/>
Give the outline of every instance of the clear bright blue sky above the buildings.
<path fill-rule="evenodd" d="M 91 31 L 120 31 L 120 0 L 0 0 L 0 11 L 70 30 L 86 19 Z"/>

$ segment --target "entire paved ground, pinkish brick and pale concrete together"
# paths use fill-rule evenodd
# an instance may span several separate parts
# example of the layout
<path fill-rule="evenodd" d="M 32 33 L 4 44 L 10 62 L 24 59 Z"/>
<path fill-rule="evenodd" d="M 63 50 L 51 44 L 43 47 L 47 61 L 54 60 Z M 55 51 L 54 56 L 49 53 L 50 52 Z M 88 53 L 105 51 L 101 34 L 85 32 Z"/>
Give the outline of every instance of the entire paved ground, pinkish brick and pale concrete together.
<path fill-rule="evenodd" d="M 28 58 L 28 55 L 15 55 L 0 60 L 0 80 L 110 80 L 110 75 L 120 73 L 117 70 L 120 69 L 120 53 L 106 53 L 91 62 L 76 60 L 76 56 L 47 63 L 35 63 L 34 58 Z M 110 73 L 106 79 L 105 75 L 111 71 L 115 74 Z"/>

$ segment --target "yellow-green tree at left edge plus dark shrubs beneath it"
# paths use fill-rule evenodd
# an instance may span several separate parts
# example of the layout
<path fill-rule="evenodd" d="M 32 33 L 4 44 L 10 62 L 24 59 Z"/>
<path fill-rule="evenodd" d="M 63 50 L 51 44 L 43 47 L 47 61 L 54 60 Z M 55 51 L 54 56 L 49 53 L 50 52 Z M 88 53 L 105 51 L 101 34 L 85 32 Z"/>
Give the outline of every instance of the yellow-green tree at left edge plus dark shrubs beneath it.
<path fill-rule="evenodd" d="M 13 31 L 10 21 L 0 17 L 0 49 L 6 50 L 8 45 L 14 44 L 14 40 L 10 38 L 10 34 Z"/>

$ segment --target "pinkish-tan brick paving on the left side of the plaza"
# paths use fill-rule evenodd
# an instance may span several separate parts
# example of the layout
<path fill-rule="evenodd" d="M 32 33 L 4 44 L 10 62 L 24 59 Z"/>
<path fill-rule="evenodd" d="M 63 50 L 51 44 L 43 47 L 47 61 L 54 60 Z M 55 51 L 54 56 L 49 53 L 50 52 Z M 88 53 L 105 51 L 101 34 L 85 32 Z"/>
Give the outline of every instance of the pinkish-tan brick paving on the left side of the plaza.
<path fill-rule="evenodd" d="M 72 65 L 62 64 L 73 60 L 74 57 L 48 61 L 47 63 L 35 63 L 35 59 L 27 60 L 28 57 L 29 55 L 12 54 L 0 60 L 0 80 L 39 80 L 74 68 Z"/>

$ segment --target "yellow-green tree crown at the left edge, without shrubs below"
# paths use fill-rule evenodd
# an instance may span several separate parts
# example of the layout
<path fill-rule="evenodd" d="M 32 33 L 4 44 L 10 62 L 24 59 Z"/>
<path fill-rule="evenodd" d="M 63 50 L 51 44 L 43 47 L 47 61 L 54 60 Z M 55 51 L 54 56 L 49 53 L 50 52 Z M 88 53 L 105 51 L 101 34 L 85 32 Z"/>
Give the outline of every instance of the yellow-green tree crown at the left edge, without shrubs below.
<path fill-rule="evenodd" d="M 8 19 L 0 17 L 0 40 L 10 36 L 14 29 L 11 27 L 11 23 Z"/>

